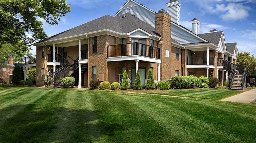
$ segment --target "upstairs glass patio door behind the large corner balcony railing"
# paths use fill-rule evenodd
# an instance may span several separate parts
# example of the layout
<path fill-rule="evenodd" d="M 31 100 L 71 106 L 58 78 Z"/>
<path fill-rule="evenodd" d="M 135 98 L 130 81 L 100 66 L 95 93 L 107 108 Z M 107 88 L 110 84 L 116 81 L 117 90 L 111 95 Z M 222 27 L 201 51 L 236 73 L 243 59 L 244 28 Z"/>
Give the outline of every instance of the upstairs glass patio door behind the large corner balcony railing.
<path fill-rule="evenodd" d="M 139 38 L 132 38 L 132 43 L 134 43 L 132 45 L 132 55 L 136 55 L 136 43 L 138 42 L 140 44 L 138 44 L 138 55 L 140 56 L 146 56 L 146 39 L 139 39 Z"/>

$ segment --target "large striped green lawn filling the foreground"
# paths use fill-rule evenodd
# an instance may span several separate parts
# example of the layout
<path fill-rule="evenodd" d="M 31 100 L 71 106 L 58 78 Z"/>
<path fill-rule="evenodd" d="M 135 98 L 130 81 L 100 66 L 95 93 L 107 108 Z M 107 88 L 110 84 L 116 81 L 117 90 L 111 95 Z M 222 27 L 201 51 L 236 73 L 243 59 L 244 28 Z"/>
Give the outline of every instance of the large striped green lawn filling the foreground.
<path fill-rule="evenodd" d="M 0 86 L 1 143 L 255 143 L 255 133 L 254 104 Z"/>

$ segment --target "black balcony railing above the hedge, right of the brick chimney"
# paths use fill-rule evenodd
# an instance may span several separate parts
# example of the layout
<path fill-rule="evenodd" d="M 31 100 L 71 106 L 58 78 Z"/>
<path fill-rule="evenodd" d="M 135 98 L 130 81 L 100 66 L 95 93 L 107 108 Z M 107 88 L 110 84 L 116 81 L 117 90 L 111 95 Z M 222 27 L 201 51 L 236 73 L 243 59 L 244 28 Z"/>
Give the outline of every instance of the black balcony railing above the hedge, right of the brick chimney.
<path fill-rule="evenodd" d="M 206 65 L 207 56 L 187 57 L 187 65 Z M 214 66 L 214 58 L 209 56 L 209 65 Z"/>

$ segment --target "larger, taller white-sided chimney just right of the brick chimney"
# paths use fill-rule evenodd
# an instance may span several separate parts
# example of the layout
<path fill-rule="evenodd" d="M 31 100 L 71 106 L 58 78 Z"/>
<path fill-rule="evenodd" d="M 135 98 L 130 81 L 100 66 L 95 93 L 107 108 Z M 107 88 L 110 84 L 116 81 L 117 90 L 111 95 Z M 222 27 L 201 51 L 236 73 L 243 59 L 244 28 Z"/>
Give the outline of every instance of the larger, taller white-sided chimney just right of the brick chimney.
<path fill-rule="evenodd" d="M 180 2 L 178 0 L 170 0 L 166 7 L 172 21 L 180 25 Z"/>

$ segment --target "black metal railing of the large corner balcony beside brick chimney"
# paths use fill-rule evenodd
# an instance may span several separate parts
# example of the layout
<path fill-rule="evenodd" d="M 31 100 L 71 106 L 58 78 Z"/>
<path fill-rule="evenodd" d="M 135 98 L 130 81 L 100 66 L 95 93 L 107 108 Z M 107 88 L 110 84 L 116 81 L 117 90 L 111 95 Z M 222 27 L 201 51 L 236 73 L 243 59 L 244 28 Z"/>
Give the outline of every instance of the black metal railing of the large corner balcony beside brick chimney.
<path fill-rule="evenodd" d="M 132 55 L 160 59 L 160 48 L 138 42 L 108 46 L 107 57 L 122 57 Z"/>

